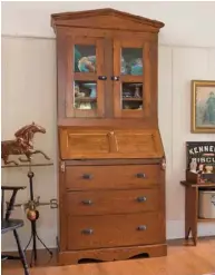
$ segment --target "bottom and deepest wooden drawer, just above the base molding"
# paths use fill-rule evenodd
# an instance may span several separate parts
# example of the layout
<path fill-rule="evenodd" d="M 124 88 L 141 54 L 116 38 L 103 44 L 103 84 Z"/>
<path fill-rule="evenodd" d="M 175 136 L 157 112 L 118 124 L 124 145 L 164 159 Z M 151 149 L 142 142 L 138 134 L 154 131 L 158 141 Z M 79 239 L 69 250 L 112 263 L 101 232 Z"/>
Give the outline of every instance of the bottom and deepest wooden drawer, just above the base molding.
<path fill-rule="evenodd" d="M 68 216 L 67 248 L 159 244 L 165 240 L 164 220 L 158 213 Z"/>

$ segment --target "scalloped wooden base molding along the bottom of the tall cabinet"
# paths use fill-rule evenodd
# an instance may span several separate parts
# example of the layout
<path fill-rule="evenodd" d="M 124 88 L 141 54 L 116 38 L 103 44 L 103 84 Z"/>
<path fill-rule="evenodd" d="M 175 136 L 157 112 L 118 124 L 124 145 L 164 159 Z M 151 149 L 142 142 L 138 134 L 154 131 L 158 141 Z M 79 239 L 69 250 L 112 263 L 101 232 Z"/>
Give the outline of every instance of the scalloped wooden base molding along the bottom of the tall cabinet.
<path fill-rule="evenodd" d="M 60 265 L 75 265 L 81 259 L 97 259 L 104 262 L 124 261 L 141 254 L 146 254 L 148 257 L 166 256 L 167 245 L 158 244 L 147 246 L 59 252 L 58 262 Z"/>

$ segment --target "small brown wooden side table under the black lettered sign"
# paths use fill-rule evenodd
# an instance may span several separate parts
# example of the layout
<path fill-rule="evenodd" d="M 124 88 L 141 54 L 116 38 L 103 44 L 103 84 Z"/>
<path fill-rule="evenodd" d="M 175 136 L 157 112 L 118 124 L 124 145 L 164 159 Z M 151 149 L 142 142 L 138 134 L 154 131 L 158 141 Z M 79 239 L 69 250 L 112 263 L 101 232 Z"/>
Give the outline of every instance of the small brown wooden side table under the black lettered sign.
<path fill-rule="evenodd" d="M 198 217 L 198 191 L 199 189 L 214 189 L 215 184 L 192 184 L 186 180 L 180 181 L 185 186 L 185 239 L 188 240 L 192 233 L 194 245 L 197 245 L 198 222 L 215 222 L 215 218 Z"/>

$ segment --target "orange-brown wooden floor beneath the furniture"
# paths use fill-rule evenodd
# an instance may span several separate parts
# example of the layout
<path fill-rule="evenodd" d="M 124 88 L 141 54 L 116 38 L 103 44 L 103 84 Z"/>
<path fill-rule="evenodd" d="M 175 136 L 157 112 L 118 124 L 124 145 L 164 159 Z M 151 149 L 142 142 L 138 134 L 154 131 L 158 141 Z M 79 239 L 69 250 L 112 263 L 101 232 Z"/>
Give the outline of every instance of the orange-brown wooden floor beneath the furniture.
<path fill-rule="evenodd" d="M 57 266 L 56 256 L 48 262 L 48 254 L 40 253 L 39 264 L 31 275 L 215 275 L 215 238 L 202 239 L 196 247 L 183 242 L 168 245 L 168 256 L 129 259 L 111 263 L 90 263 Z M 9 262 L 9 261 L 8 261 Z M 2 275 L 23 275 L 18 263 L 2 264 Z"/>

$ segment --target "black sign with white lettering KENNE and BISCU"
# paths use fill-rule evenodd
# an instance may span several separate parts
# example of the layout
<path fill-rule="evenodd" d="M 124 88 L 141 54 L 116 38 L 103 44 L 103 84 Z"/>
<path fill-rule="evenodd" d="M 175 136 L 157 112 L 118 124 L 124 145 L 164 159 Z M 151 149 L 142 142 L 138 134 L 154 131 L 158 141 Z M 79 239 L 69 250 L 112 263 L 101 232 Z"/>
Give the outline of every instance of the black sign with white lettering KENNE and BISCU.
<path fill-rule="evenodd" d="M 186 143 L 186 168 L 196 164 L 196 170 L 202 169 L 215 174 L 215 141 L 187 141 Z"/>

